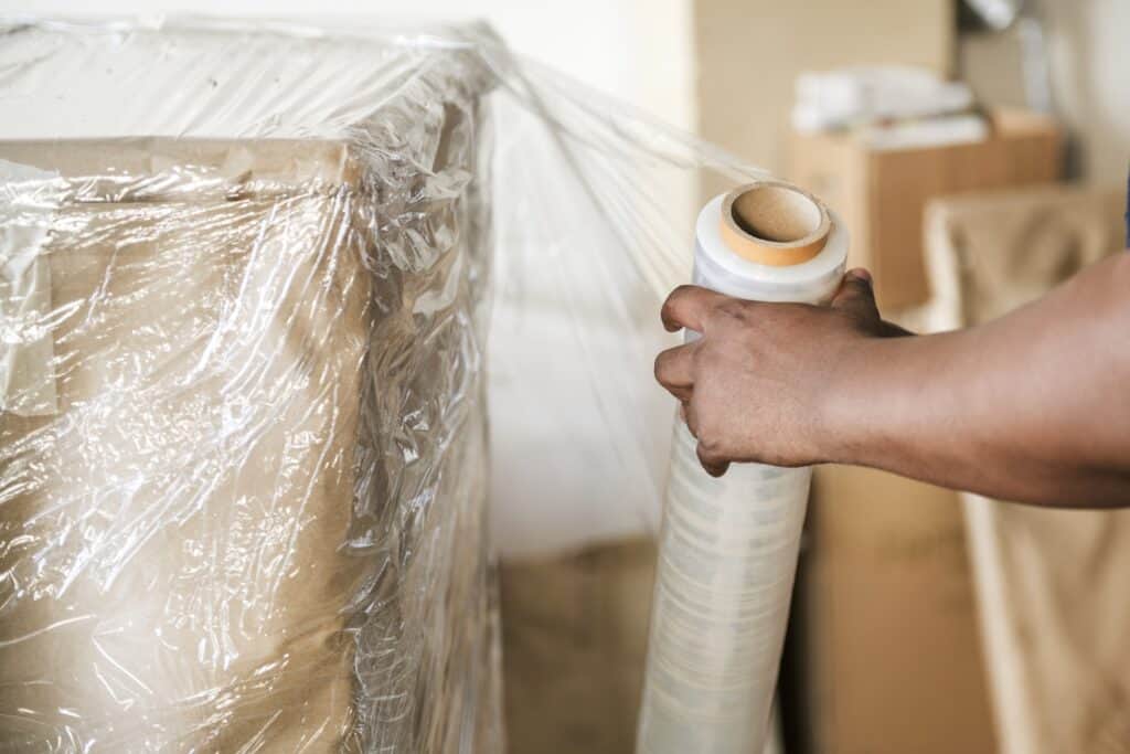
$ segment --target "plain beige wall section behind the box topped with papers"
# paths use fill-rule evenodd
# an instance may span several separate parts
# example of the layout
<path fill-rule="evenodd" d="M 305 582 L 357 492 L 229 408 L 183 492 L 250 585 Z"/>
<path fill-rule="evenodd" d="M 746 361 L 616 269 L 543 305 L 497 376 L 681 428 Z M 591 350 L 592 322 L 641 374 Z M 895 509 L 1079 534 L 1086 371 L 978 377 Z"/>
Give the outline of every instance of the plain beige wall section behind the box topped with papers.
<path fill-rule="evenodd" d="M 699 132 L 781 173 L 797 73 L 852 63 L 949 72 L 953 12 L 953 0 L 697 0 Z"/>

